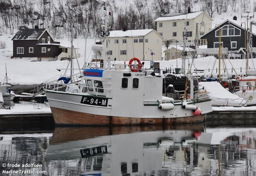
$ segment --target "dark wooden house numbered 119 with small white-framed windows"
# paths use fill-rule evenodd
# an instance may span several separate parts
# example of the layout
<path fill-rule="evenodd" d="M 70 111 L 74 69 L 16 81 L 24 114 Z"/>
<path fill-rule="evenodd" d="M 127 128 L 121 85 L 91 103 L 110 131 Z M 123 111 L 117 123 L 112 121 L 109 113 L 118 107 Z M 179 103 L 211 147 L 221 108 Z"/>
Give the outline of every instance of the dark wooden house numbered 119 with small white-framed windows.
<path fill-rule="evenodd" d="M 39 29 L 38 26 L 34 29 L 20 28 L 12 41 L 14 58 L 52 61 L 63 52 L 60 42 L 55 42 L 47 29 Z"/>

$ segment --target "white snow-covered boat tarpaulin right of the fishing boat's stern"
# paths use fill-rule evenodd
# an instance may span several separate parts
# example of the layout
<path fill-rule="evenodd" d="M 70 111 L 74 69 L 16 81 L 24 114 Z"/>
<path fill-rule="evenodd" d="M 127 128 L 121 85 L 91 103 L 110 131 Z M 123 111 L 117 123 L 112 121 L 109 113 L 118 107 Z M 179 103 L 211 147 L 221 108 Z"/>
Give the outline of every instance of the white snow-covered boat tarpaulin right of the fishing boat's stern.
<path fill-rule="evenodd" d="M 199 86 L 204 86 L 212 99 L 212 106 L 246 106 L 244 98 L 236 96 L 223 88 L 219 82 L 199 82 Z"/>

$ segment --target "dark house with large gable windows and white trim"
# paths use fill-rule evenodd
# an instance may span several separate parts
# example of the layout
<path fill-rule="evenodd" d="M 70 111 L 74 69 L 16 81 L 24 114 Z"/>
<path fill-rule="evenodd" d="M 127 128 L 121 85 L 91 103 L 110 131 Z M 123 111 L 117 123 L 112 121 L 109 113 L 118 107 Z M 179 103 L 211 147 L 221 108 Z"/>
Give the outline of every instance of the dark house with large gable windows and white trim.
<path fill-rule="evenodd" d="M 241 27 L 230 20 L 226 20 L 212 30 L 200 36 L 200 39 L 207 39 L 207 48 L 219 48 L 219 33 L 221 29 L 221 44 L 228 51 L 238 51 L 245 47 L 244 27 Z M 252 47 L 256 47 L 256 34 L 252 33 Z"/>

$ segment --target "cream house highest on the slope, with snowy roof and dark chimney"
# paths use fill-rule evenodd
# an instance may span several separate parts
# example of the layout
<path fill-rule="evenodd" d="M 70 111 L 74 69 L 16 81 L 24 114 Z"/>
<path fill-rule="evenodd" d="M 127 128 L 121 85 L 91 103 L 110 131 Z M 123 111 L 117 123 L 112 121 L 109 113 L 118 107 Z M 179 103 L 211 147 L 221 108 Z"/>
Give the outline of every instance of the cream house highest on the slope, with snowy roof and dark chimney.
<path fill-rule="evenodd" d="M 187 13 L 172 13 L 164 14 L 162 17 L 157 18 L 157 32 L 161 34 L 164 39 L 174 39 L 178 43 L 183 42 L 184 25 L 186 24 L 186 37 L 189 44 L 195 44 L 196 39 L 196 24 L 198 35 L 201 36 L 212 28 L 213 19 L 204 11 L 190 12 L 190 8 Z M 201 28 L 201 29 L 200 29 Z M 200 32 L 199 32 L 200 30 Z M 198 36 L 198 37 L 199 37 Z M 199 41 L 199 45 L 206 44 L 204 41 Z M 204 43 L 203 43 L 204 42 Z"/>

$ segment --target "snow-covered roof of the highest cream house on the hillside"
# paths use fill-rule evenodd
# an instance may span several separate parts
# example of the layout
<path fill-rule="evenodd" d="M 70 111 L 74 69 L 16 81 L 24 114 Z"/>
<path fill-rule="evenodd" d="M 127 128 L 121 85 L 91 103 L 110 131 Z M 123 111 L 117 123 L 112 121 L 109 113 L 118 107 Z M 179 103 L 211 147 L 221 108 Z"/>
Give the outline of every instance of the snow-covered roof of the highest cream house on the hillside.
<path fill-rule="evenodd" d="M 188 17 L 187 17 L 186 13 L 185 14 L 184 13 L 177 13 L 177 15 L 175 15 L 175 13 L 173 13 L 173 14 L 170 14 L 171 16 L 165 15 L 165 16 L 159 17 L 155 21 L 186 19 L 186 17 L 187 17 L 187 19 L 194 19 L 203 12 L 204 11 L 197 11 L 197 12 L 188 13 Z"/>

